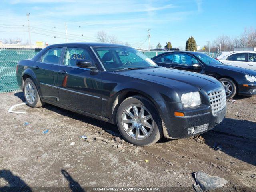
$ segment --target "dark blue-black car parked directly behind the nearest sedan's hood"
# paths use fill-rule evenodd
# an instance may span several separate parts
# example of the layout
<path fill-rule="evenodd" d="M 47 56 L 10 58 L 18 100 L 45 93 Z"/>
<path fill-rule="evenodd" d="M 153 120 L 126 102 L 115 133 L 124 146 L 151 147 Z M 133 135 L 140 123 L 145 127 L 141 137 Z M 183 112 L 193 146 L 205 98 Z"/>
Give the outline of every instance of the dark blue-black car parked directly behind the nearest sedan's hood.
<path fill-rule="evenodd" d="M 213 76 L 225 88 L 226 97 L 256 94 L 256 71 L 225 65 L 201 52 L 168 52 L 152 58 L 158 66 Z"/>

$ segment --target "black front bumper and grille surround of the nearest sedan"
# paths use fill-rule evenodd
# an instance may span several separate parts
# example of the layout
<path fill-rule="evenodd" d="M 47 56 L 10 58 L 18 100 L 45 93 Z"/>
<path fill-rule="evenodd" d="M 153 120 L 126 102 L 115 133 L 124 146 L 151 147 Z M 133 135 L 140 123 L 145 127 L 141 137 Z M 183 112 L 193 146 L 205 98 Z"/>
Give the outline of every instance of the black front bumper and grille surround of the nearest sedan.
<path fill-rule="evenodd" d="M 216 111 L 211 108 L 208 96 L 213 91 L 222 89 L 221 84 L 210 84 L 200 90 L 202 104 L 191 108 L 183 108 L 181 103 L 162 103 L 161 117 L 164 136 L 178 139 L 202 134 L 222 122 L 226 115 L 226 102 L 222 110 Z M 224 101 L 226 96 L 224 94 Z M 215 106 L 215 105 L 214 105 Z M 175 116 L 174 112 L 183 113 L 184 116 Z M 168 114 L 168 116 L 166 115 Z M 179 114 L 179 113 L 178 113 Z M 194 132 L 193 132 L 193 131 Z"/>

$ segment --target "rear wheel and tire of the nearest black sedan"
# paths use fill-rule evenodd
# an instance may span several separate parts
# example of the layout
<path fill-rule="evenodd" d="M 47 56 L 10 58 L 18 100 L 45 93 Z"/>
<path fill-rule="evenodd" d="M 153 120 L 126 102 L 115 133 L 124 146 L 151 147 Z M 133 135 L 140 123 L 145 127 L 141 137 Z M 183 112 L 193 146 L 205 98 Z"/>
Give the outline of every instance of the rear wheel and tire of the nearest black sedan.
<path fill-rule="evenodd" d="M 23 86 L 24 97 L 30 107 L 42 107 L 45 103 L 42 102 L 36 85 L 31 78 L 26 78 Z"/>

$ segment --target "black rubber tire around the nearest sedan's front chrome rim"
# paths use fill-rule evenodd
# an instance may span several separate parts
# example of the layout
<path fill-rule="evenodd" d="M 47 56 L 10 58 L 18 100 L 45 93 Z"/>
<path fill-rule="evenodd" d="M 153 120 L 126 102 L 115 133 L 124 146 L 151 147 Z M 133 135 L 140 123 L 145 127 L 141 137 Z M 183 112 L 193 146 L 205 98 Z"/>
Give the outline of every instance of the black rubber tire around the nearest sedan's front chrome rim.
<path fill-rule="evenodd" d="M 124 110 L 132 104 L 140 104 L 147 108 L 149 112 L 152 115 L 152 118 L 154 120 L 154 128 L 150 136 L 148 136 L 146 139 L 143 140 L 138 140 L 134 139 L 131 136 L 128 135 L 128 133 L 124 130 L 124 127 L 122 125 L 122 114 Z M 141 96 L 133 96 L 126 98 L 119 106 L 117 110 L 117 116 L 116 116 L 116 121 L 117 121 L 117 126 L 118 130 L 121 133 L 121 135 L 130 143 L 139 145 L 139 146 L 146 146 L 153 144 L 157 142 L 161 137 L 162 137 L 162 126 L 161 126 L 161 120 L 159 115 L 156 112 L 156 109 L 154 105 L 148 101 L 146 98 L 141 97 Z"/>

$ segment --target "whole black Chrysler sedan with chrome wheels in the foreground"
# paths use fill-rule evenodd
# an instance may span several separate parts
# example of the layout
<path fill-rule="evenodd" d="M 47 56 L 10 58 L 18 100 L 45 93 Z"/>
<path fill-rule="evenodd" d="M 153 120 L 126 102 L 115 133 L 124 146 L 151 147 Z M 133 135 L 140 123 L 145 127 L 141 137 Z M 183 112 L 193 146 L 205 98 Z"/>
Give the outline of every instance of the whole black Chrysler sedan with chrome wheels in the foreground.
<path fill-rule="evenodd" d="M 159 67 L 127 46 L 51 45 L 21 60 L 16 73 L 29 106 L 49 103 L 117 124 L 127 141 L 141 146 L 201 134 L 226 113 L 218 80 Z"/>

